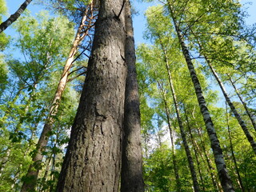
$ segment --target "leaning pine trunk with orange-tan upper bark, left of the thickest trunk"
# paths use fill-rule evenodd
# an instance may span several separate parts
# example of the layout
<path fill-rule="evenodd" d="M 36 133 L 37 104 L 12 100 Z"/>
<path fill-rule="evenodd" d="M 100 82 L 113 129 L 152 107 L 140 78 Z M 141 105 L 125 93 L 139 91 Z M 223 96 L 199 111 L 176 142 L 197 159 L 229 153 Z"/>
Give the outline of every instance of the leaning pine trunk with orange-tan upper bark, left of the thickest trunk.
<path fill-rule="evenodd" d="M 66 64 L 64 66 L 64 69 L 62 71 L 61 79 L 58 82 L 57 90 L 54 94 L 53 102 L 50 105 L 50 110 L 48 117 L 46 119 L 45 125 L 43 126 L 42 133 L 40 135 L 40 138 L 37 143 L 37 150 L 35 154 L 33 155 L 33 163 L 30 165 L 30 168 L 26 174 L 27 182 L 24 182 L 22 185 L 22 192 L 28 191 L 28 190 L 34 190 L 36 186 L 36 181 L 38 178 L 39 169 L 37 168 L 38 165 L 42 162 L 42 151 L 45 150 L 45 147 L 49 140 L 49 133 L 52 129 L 52 126 L 54 124 L 54 115 L 58 112 L 58 106 L 60 104 L 62 94 L 65 90 L 66 83 L 68 81 L 68 75 L 70 73 L 70 67 L 73 64 L 75 54 L 78 53 L 78 45 L 82 42 L 82 40 L 86 37 L 87 29 L 85 29 L 84 23 L 86 22 L 86 18 L 88 17 L 88 14 L 92 10 L 92 6 L 89 5 L 87 10 L 84 13 L 84 16 L 82 17 L 82 21 L 80 26 L 78 27 L 78 31 L 76 34 L 76 37 L 74 38 L 73 46 L 70 49 L 69 57 L 66 60 Z M 90 13 L 91 14 L 91 13 Z M 91 18 L 90 18 L 91 19 Z M 84 30 L 84 31 L 83 31 Z"/>

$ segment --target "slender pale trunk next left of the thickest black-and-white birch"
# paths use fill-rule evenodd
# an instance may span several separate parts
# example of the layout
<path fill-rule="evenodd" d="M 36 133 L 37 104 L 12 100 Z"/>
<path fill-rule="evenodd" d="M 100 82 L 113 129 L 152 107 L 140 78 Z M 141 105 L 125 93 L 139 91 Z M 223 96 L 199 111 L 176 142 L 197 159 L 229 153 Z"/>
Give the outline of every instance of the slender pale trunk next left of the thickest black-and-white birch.
<path fill-rule="evenodd" d="M 186 158 L 187 158 L 189 166 L 190 166 L 190 174 L 191 174 L 191 178 L 192 178 L 192 181 L 193 181 L 194 191 L 198 192 L 198 191 L 200 191 L 200 188 L 199 188 L 199 185 L 198 185 L 198 178 L 197 178 L 197 175 L 195 173 L 194 162 L 193 162 L 193 158 L 192 158 L 191 153 L 190 153 L 190 148 L 189 148 L 188 143 L 186 141 L 186 134 L 185 134 L 185 131 L 184 131 L 182 118 L 181 118 L 179 108 L 178 108 L 178 101 L 177 101 L 177 97 L 176 97 L 175 90 L 174 90 L 174 83 L 172 82 L 172 77 L 171 77 L 171 74 L 170 74 L 170 66 L 169 66 L 169 62 L 168 62 L 168 58 L 167 58 L 167 53 L 166 53 L 166 50 L 164 49 L 164 46 L 162 44 L 161 44 L 161 46 L 162 46 L 162 51 L 164 52 L 164 57 L 165 57 L 165 62 L 166 62 L 166 70 L 167 70 L 167 73 L 168 73 L 168 80 L 169 80 L 169 84 L 170 84 L 171 94 L 172 94 L 172 97 L 173 97 L 173 100 L 174 100 L 174 106 L 175 106 L 177 119 L 178 119 L 178 126 L 179 126 L 180 131 L 181 131 L 182 142 L 183 142 L 183 145 L 184 145 L 184 148 L 185 148 L 185 151 L 186 151 Z"/>

